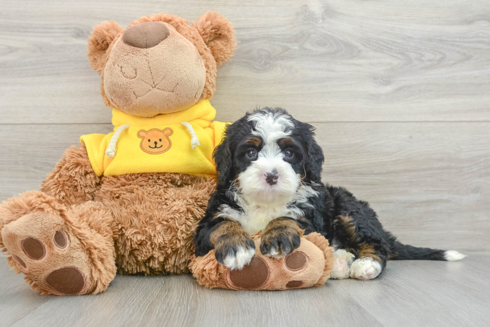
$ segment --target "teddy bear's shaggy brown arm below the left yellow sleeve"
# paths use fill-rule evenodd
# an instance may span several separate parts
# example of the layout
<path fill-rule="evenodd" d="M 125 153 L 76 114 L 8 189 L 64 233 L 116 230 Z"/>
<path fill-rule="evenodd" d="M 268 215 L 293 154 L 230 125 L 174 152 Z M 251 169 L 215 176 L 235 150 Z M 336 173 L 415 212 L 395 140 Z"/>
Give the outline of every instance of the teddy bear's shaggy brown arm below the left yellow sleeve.
<path fill-rule="evenodd" d="M 101 178 L 93 171 L 82 142 L 80 147 L 66 149 L 40 190 L 69 206 L 93 200 L 100 186 Z"/>

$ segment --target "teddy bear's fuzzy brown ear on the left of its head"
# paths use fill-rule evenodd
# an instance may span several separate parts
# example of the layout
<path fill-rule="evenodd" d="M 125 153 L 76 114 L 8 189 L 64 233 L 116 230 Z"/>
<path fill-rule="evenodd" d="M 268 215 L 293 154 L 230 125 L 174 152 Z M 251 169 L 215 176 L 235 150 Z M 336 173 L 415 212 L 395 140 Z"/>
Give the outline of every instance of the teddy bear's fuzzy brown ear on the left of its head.
<path fill-rule="evenodd" d="M 105 52 L 121 31 L 122 27 L 113 20 L 103 21 L 100 25 L 93 27 L 87 44 L 88 61 L 93 70 L 100 73 L 104 69 L 107 60 Z"/>

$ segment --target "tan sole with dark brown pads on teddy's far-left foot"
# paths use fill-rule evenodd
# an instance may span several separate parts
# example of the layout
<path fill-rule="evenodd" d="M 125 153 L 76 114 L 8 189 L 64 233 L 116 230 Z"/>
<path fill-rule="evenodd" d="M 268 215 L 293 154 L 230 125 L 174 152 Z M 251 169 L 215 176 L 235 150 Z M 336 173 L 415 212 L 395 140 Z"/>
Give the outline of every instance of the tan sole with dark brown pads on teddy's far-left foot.
<path fill-rule="evenodd" d="M 62 218 L 32 212 L 6 224 L 1 238 L 16 268 L 44 294 L 87 293 L 93 283 L 88 256 Z"/>

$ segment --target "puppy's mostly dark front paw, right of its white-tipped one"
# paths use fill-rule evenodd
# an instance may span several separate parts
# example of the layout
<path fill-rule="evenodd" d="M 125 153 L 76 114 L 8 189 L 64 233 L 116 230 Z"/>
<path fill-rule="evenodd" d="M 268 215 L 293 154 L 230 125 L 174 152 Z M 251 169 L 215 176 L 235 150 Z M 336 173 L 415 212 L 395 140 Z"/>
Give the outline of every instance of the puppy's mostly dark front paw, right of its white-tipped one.
<path fill-rule="evenodd" d="M 265 231 L 260 242 L 260 252 L 266 257 L 282 258 L 300 244 L 297 229 L 290 226 L 278 226 Z"/>

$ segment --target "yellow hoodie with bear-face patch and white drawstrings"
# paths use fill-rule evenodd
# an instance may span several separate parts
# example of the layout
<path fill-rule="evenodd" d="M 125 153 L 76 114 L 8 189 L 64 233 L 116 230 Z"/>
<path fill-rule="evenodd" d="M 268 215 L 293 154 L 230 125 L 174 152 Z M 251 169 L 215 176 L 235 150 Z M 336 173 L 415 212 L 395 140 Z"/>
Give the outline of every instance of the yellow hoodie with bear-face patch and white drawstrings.
<path fill-rule="evenodd" d="M 151 118 L 112 109 L 114 132 L 80 137 L 97 176 L 182 173 L 215 176 L 212 152 L 226 123 L 211 122 L 216 110 L 202 100 L 180 112 Z"/>

